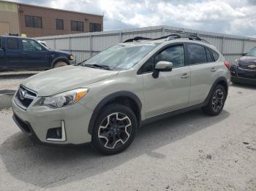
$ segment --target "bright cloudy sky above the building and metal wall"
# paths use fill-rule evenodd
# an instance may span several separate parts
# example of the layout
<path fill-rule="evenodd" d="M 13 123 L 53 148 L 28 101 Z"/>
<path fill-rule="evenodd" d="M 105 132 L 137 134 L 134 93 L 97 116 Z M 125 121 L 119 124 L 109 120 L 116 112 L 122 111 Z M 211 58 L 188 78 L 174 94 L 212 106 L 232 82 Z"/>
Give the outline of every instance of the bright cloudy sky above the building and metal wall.
<path fill-rule="evenodd" d="M 176 26 L 256 37 L 256 0 L 18 0 L 104 15 L 104 30 Z"/>

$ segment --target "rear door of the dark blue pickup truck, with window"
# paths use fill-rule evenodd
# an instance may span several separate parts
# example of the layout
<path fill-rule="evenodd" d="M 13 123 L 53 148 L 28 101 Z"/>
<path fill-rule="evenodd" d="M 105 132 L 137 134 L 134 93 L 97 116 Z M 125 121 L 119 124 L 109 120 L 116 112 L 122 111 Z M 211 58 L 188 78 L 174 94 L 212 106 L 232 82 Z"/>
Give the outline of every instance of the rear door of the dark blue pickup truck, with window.
<path fill-rule="evenodd" d="M 5 55 L 7 68 L 20 69 L 22 66 L 22 51 L 20 38 L 7 37 L 5 40 Z"/>

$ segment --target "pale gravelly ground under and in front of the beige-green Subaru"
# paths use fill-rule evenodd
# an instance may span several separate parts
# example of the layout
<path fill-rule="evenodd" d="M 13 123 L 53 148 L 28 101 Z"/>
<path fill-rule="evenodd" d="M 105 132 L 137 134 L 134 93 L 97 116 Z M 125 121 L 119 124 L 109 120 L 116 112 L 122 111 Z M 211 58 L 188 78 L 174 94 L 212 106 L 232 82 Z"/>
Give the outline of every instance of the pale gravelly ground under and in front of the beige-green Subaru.
<path fill-rule="evenodd" d="M 33 144 L 2 110 L 0 190 L 256 190 L 255 95 L 231 86 L 219 116 L 197 110 L 154 122 L 113 156 Z"/>

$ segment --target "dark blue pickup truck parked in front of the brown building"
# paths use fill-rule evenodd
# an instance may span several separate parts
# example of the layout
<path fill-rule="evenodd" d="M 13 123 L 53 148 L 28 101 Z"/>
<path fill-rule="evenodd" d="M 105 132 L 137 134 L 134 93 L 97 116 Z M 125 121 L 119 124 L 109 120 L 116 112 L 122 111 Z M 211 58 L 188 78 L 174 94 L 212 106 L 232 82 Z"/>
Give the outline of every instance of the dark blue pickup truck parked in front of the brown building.
<path fill-rule="evenodd" d="M 73 63 L 70 52 L 52 50 L 34 39 L 0 36 L 0 70 L 53 69 Z"/>

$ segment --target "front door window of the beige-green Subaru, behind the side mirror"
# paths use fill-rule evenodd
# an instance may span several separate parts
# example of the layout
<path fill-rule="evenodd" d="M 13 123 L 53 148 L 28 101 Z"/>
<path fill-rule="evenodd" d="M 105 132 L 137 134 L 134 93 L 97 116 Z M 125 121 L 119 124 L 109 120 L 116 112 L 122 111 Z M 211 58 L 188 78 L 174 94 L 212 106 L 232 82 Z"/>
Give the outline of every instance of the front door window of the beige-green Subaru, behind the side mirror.
<path fill-rule="evenodd" d="M 142 73 L 154 71 L 154 66 L 159 61 L 168 61 L 173 63 L 174 68 L 178 68 L 185 65 L 185 57 L 184 57 L 184 47 L 183 45 L 178 45 L 175 47 L 167 47 L 162 52 L 159 52 L 154 57 L 151 57 L 144 63 L 142 66 Z"/>

